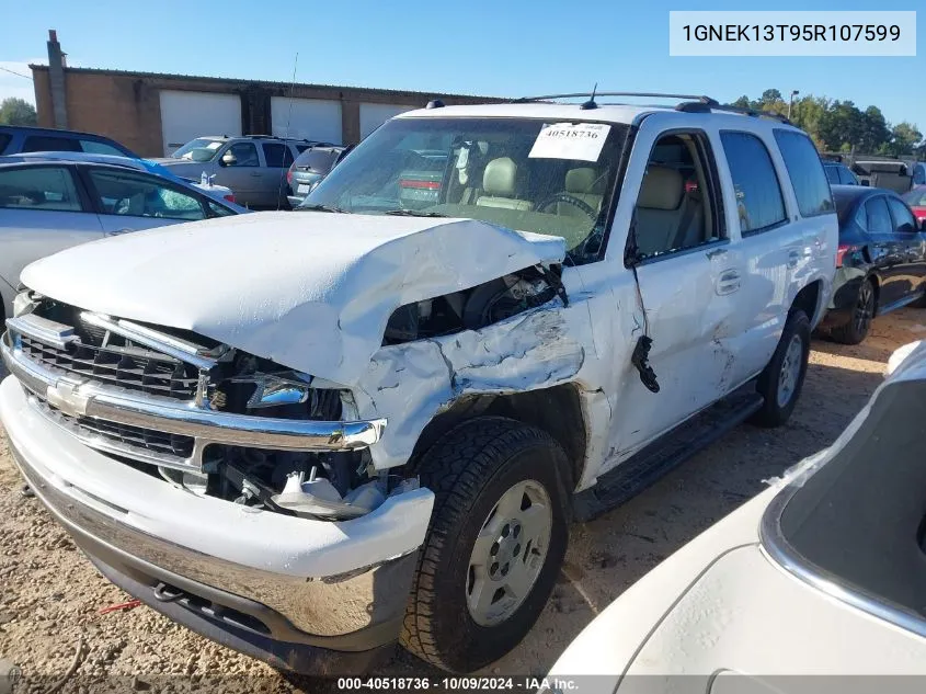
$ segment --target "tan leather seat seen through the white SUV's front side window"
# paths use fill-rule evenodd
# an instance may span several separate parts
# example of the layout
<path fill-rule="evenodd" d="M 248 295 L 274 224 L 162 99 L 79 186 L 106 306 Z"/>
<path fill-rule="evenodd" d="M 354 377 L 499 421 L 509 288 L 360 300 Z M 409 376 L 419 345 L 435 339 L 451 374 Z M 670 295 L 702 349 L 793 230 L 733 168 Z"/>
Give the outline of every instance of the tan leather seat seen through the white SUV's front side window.
<path fill-rule="evenodd" d="M 652 255 L 687 248 L 702 239 L 704 211 L 685 194 L 685 182 L 675 169 L 650 164 L 637 198 L 637 248 Z M 683 228 L 684 227 L 684 228 Z"/>

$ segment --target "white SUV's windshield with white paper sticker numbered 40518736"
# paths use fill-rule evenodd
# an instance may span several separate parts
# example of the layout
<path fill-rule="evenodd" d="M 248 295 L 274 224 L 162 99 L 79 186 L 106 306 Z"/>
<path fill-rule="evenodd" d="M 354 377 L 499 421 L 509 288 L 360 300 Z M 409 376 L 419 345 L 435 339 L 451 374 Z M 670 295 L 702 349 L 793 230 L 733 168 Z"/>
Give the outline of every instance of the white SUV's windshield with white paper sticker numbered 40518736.
<path fill-rule="evenodd" d="M 481 219 L 597 257 L 629 126 L 395 118 L 334 167 L 304 208 Z"/>

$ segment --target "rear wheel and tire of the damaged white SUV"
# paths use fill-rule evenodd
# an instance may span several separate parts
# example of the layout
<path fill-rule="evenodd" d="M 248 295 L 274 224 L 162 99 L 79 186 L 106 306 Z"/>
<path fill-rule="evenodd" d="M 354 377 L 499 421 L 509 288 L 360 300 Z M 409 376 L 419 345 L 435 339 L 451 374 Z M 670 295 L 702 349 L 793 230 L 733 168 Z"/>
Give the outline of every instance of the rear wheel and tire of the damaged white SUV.
<path fill-rule="evenodd" d="M 775 354 L 758 377 L 756 389 L 764 402 L 750 423 L 771 428 L 788 421 L 803 387 L 809 356 L 810 320 L 794 309 L 788 315 Z"/>

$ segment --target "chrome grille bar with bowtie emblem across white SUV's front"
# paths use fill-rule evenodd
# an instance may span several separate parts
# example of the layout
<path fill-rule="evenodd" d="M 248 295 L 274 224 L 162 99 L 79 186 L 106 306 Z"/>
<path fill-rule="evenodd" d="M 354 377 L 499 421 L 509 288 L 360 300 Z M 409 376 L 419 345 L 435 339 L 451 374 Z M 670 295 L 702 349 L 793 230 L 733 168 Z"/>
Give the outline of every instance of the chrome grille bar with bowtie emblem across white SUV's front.
<path fill-rule="evenodd" d="M 61 376 L 41 366 L 0 340 L 7 368 L 43 400 L 66 413 L 193 436 L 197 443 L 219 443 L 282 451 L 352 451 L 379 441 L 385 419 L 322 422 L 232 414 L 133 391 L 104 389 Z"/>

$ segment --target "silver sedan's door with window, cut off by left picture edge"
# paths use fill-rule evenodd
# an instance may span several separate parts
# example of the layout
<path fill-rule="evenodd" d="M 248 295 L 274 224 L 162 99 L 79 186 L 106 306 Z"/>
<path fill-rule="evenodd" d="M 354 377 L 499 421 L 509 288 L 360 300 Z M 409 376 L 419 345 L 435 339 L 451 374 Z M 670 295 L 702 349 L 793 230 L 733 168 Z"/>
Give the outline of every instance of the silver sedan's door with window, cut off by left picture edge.
<path fill-rule="evenodd" d="M 103 227 L 68 166 L 0 168 L 0 277 L 16 286 L 23 268 L 103 238 Z"/>

